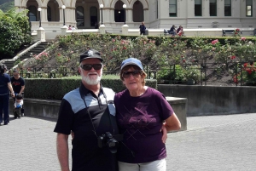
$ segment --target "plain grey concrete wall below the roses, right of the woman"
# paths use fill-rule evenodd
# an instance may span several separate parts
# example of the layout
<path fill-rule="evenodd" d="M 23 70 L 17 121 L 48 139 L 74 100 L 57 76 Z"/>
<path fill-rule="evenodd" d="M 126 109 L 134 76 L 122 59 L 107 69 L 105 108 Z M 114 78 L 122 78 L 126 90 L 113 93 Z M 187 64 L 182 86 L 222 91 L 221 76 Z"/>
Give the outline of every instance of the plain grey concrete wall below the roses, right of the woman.
<path fill-rule="evenodd" d="M 166 96 L 187 98 L 188 117 L 256 112 L 255 87 L 159 84 L 157 88 Z"/>

